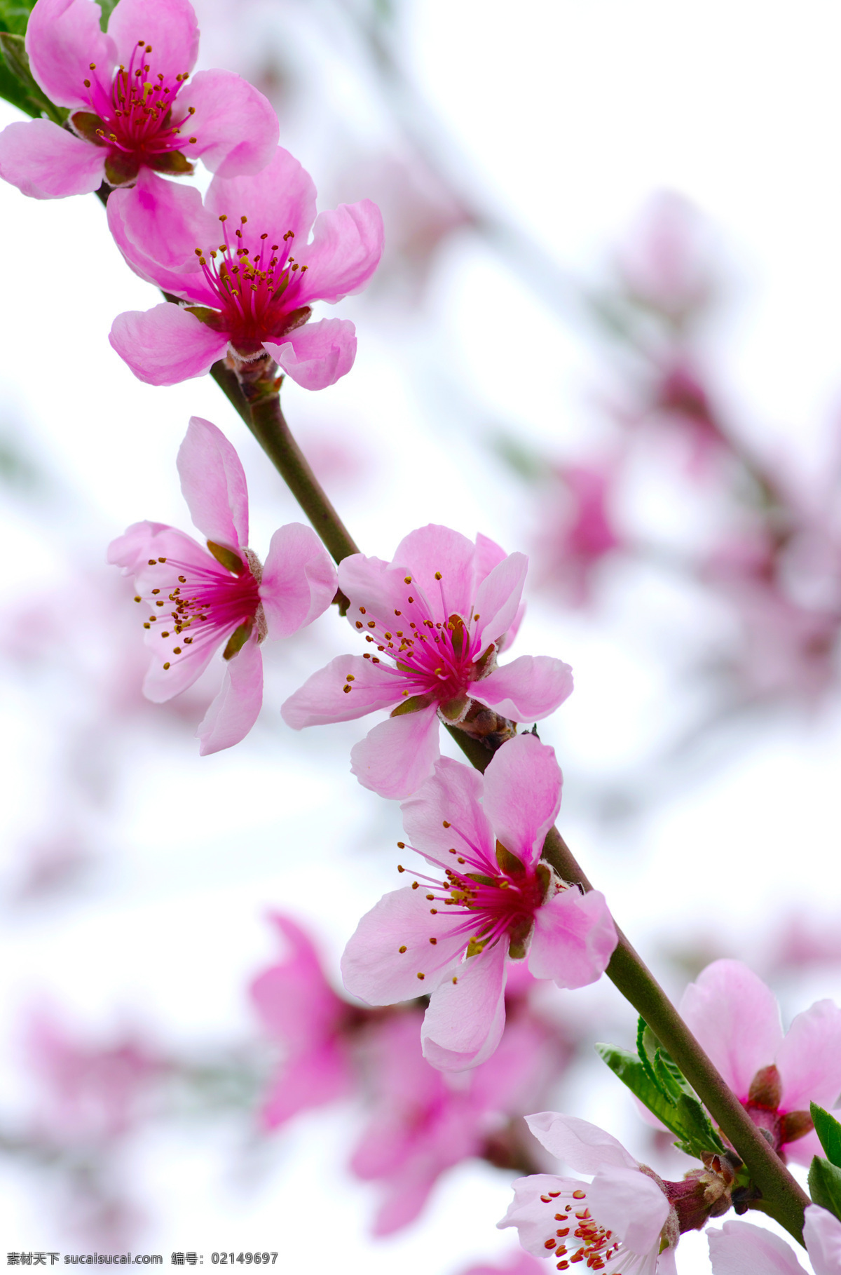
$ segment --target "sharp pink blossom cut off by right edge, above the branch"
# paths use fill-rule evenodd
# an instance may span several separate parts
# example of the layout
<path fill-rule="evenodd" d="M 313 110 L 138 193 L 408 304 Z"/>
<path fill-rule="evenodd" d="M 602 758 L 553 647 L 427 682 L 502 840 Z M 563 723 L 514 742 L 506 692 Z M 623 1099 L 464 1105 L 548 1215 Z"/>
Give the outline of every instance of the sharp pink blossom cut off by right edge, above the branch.
<path fill-rule="evenodd" d="M 680 1014 L 777 1154 L 799 1164 L 821 1155 L 809 1103 L 828 1108 L 841 1093 L 841 1010 L 816 1001 L 784 1035 L 762 979 L 717 960 L 688 986 Z"/>

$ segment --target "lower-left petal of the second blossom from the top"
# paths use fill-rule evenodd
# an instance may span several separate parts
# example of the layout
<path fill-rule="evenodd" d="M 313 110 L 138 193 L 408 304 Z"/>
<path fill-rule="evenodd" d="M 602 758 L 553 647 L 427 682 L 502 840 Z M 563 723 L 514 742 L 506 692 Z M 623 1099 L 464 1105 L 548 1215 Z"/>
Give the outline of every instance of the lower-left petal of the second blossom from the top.
<path fill-rule="evenodd" d="M 177 385 L 204 376 L 228 348 L 227 337 L 168 301 L 117 315 L 108 340 L 147 385 Z"/>

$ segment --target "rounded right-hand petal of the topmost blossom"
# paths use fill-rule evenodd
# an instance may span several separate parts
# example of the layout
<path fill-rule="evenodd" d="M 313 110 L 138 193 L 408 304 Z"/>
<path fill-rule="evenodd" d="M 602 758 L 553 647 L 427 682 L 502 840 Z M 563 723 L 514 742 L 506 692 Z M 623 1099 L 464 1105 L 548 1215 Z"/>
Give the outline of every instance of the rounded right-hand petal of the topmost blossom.
<path fill-rule="evenodd" d="M 125 0 L 120 0 L 125 4 Z M 268 98 L 233 71 L 199 71 L 178 93 L 178 111 L 195 108 L 190 129 L 199 139 L 186 152 L 220 177 L 255 173 L 278 145 L 278 116 Z"/>

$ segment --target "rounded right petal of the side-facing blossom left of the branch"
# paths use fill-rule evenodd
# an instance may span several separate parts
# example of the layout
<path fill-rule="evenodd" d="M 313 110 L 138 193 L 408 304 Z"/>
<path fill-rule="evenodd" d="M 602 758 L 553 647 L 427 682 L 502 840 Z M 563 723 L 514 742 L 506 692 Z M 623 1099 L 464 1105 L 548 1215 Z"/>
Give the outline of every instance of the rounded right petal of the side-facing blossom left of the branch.
<path fill-rule="evenodd" d="M 270 636 L 288 638 L 311 623 L 335 593 L 336 569 L 312 528 L 280 527 L 271 537 L 260 585 Z"/>

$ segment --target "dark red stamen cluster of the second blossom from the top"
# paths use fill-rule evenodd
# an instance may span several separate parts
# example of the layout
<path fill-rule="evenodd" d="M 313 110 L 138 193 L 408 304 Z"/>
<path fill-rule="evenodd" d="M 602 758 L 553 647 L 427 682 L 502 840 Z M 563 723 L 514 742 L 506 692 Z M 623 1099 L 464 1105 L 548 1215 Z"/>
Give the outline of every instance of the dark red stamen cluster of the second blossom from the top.
<path fill-rule="evenodd" d="M 206 254 L 200 247 L 195 252 L 222 314 L 214 317 L 203 307 L 191 309 L 210 326 L 229 333 L 232 346 L 246 360 L 254 358 L 264 337 L 285 337 L 310 317 L 310 306 L 296 305 L 307 266 L 289 252 L 294 231 L 287 231 L 282 244 L 269 245 L 269 233 L 252 236 L 245 229 L 248 218 L 241 217 L 232 242 L 227 213 L 219 221 L 224 242 Z"/>

